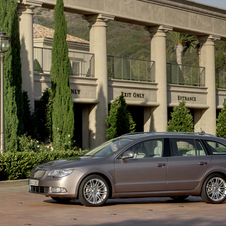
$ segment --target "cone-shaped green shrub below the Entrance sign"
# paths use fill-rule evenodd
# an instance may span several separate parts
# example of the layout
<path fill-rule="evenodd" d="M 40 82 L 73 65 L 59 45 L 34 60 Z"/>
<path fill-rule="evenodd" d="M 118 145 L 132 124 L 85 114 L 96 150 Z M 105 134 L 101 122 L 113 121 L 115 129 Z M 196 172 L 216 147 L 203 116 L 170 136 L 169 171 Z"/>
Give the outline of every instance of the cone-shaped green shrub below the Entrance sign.
<path fill-rule="evenodd" d="M 173 108 L 172 119 L 167 126 L 168 132 L 194 132 L 193 117 L 185 104 L 185 101 L 181 101 L 179 106 Z"/>

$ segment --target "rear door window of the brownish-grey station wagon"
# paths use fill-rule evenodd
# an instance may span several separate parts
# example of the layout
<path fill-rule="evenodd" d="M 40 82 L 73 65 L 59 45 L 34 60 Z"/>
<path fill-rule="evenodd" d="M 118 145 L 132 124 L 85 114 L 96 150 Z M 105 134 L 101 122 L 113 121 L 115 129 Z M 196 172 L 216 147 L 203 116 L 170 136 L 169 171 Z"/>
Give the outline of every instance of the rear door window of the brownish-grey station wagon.
<path fill-rule="evenodd" d="M 171 156 L 203 156 L 205 150 L 199 140 L 172 138 L 170 140 Z"/>

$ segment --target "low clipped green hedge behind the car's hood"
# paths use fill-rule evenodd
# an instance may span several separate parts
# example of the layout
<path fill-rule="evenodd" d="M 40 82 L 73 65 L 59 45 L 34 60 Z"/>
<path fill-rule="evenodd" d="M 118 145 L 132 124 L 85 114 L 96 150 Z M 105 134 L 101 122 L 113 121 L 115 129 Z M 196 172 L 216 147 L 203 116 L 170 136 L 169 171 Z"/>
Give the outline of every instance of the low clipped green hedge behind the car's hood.
<path fill-rule="evenodd" d="M 39 164 L 83 154 L 85 151 L 6 152 L 0 155 L 0 180 L 26 179 Z"/>

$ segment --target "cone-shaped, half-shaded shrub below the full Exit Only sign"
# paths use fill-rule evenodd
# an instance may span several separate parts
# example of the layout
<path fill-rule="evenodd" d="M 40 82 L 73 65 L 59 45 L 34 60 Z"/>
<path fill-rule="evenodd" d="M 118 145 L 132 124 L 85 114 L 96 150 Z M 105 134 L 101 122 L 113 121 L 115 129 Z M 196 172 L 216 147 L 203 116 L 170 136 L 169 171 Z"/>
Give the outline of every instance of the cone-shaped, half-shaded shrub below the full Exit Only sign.
<path fill-rule="evenodd" d="M 129 111 L 124 96 L 119 96 L 111 105 L 109 116 L 106 119 L 107 138 L 113 139 L 125 133 L 135 131 L 136 124 Z"/>

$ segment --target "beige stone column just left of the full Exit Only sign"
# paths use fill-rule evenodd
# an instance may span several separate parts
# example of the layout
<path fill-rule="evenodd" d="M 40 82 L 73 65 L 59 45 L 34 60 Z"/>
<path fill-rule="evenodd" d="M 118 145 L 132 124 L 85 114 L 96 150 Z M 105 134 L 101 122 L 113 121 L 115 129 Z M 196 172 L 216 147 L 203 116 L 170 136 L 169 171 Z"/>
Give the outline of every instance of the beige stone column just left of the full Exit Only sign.
<path fill-rule="evenodd" d="M 99 103 L 92 106 L 89 115 L 90 148 L 106 141 L 105 123 L 108 115 L 108 75 L 107 75 L 107 22 L 110 15 L 84 16 L 90 22 L 90 52 L 95 55 L 95 77 L 97 80 L 96 98 Z"/>

